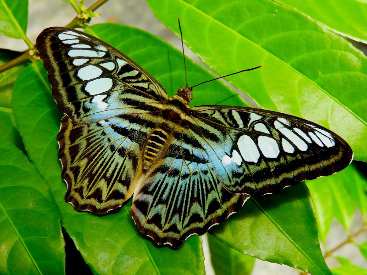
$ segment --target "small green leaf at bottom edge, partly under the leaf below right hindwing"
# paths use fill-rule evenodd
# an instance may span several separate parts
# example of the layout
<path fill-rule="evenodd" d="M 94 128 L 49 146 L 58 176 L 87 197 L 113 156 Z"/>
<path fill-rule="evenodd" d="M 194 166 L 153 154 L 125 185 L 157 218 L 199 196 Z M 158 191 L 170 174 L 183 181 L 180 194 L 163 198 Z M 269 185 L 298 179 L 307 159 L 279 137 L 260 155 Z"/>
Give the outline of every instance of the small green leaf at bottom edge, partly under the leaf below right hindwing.
<path fill-rule="evenodd" d="M 211 235 L 208 236 L 211 264 L 216 275 L 238 274 L 250 275 L 255 258 L 242 254 L 219 242 Z"/>

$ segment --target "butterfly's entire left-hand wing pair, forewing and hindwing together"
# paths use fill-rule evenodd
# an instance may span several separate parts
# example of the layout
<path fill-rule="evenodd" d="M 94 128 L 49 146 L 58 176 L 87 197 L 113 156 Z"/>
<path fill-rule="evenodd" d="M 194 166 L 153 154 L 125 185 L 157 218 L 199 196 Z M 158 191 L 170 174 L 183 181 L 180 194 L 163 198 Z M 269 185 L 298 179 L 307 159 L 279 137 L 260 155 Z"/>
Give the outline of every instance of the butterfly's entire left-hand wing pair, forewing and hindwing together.
<path fill-rule="evenodd" d="M 45 29 L 37 50 L 66 114 L 58 134 L 65 200 L 95 214 L 121 206 L 155 125 L 150 111 L 168 98 L 166 91 L 126 55 L 77 30 Z"/>

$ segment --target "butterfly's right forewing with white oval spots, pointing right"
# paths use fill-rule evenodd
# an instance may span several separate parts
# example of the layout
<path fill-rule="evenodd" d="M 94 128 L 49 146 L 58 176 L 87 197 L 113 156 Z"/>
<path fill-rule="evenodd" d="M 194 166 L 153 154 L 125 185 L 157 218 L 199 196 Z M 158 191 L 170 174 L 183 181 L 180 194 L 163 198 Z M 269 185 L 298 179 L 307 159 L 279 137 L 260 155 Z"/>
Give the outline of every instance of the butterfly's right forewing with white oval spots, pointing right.
<path fill-rule="evenodd" d="M 192 109 L 200 140 L 217 144 L 211 161 L 234 194 L 274 193 L 339 172 L 353 159 L 341 137 L 302 118 L 235 106 Z"/>

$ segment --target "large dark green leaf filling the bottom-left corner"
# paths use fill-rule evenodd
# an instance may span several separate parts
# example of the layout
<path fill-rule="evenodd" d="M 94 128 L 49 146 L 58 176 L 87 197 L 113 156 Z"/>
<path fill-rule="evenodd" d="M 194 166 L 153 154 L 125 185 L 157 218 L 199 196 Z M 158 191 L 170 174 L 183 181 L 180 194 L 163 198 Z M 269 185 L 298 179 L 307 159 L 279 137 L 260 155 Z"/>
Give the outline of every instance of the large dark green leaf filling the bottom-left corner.
<path fill-rule="evenodd" d="M 64 274 L 60 212 L 46 181 L 0 135 L 0 273 Z"/>

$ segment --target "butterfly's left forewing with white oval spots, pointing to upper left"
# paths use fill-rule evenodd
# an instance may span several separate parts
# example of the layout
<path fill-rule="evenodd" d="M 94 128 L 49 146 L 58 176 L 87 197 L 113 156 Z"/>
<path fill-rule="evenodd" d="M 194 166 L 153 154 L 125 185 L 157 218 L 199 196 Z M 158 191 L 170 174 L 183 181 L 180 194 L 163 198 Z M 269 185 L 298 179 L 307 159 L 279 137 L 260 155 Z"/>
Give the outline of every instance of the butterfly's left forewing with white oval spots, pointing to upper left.
<path fill-rule="evenodd" d="M 37 38 L 59 109 L 75 123 L 145 112 L 168 98 L 161 85 L 117 49 L 88 34 L 49 28 Z"/>

